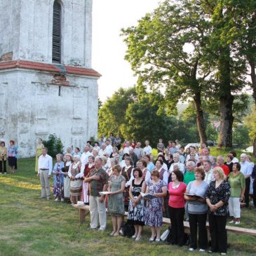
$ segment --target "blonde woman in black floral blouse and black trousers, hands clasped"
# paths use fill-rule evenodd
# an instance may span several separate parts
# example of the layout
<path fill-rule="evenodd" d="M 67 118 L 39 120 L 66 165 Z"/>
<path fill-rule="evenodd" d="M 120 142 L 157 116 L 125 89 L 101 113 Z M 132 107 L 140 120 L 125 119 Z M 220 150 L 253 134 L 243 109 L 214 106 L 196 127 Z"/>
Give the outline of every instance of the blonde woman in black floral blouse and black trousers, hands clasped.
<path fill-rule="evenodd" d="M 213 169 L 215 180 L 210 182 L 206 191 L 206 203 L 208 204 L 208 220 L 210 226 L 211 252 L 227 254 L 227 213 L 230 196 L 229 182 L 225 180 L 225 175 L 220 167 Z"/>

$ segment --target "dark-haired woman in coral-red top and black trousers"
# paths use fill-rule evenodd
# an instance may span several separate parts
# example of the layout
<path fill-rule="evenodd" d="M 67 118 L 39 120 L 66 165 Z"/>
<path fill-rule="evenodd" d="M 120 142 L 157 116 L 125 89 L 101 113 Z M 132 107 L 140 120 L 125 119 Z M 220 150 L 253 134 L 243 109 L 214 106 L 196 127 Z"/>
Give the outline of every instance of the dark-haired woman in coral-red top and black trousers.
<path fill-rule="evenodd" d="M 182 182 L 183 174 L 180 170 L 173 170 L 171 175 L 172 182 L 168 185 L 171 243 L 182 246 L 184 245 L 184 193 L 187 185 Z"/>

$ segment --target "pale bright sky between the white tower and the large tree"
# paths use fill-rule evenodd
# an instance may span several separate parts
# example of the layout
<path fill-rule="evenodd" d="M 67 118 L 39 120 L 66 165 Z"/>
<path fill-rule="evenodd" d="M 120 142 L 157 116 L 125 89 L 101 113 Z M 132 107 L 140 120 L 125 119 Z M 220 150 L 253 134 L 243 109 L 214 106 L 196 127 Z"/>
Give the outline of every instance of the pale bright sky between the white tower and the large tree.
<path fill-rule="evenodd" d="M 103 102 L 120 87 L 136 83 L 130 64 L 124 60 L 126 44 L 121 28 L 137 24 L 161 0 L 93 0 L 93 69 L 102 74 L 98 80 Z"/>

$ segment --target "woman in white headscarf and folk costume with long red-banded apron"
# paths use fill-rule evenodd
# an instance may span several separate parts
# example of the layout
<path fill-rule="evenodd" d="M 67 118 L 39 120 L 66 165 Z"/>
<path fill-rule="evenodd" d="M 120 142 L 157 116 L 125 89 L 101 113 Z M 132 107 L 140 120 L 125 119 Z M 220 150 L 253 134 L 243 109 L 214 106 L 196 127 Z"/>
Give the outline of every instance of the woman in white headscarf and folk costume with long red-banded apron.
<path fill-rule="evenodd" d="M 80 178 L 81 161 L 79 155 L 74 155 L 74 163 L 69 166 L 70 178 L 70 201 L 76 204 L 81 199 L 82 194 L 82 180 Z"/>

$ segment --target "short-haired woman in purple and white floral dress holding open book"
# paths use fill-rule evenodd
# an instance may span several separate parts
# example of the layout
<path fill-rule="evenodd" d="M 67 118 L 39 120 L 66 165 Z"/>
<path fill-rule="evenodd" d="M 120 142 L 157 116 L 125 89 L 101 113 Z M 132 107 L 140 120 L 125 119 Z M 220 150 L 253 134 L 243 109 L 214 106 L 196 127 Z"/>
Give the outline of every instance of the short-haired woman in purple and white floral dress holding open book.
<path fill-rule="evenodd" d="M 156 242 L 160 242 L 161 227 L 163 225 L 163 198 L 166 196 L 167 184 L 159 179 L 159 171 L 153 170 L 151 180 L 147 182 L 146 194 L 153 195 L 146 203 L 144 223 L 151 229 L 150 242 L 156 238 Z"/>

